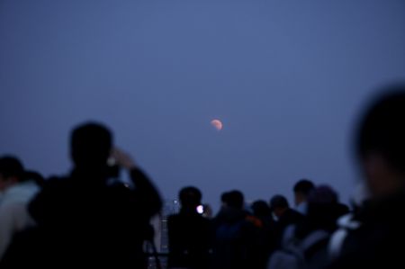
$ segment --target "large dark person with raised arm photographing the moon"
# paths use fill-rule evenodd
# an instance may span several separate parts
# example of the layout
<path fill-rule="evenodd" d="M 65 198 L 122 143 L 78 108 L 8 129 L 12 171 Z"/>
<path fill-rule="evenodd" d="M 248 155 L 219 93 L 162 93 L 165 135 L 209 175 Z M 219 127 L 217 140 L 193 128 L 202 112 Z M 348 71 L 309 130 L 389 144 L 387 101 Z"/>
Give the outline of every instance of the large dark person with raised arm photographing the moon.
<path fill-rule="evenodd" d="M 33 265 L 145 268 L 148 222 L 161 208 L 157 190 L 128 155 L 113 149 L 112 134 L 101 124 L 73 130 L 70 153 L 71 174 L 49 179 L 30 204 L 41 235 L 32 244 Z M 112 180 L 109 157 L 130 173 L 134 188 Z"/>

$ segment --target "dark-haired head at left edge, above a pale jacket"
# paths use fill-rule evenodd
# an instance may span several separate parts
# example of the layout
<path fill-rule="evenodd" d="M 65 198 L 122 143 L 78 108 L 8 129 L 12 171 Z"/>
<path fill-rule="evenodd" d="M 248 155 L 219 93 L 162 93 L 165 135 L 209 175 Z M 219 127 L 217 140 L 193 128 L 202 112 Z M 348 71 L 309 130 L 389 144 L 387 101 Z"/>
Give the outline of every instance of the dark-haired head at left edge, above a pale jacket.
<path fill-rule="evenodd" d="M 0 191 L 19 183 L 24 179 L 24 168 L 21 161 L 12 156 L 0 157 Z"/>

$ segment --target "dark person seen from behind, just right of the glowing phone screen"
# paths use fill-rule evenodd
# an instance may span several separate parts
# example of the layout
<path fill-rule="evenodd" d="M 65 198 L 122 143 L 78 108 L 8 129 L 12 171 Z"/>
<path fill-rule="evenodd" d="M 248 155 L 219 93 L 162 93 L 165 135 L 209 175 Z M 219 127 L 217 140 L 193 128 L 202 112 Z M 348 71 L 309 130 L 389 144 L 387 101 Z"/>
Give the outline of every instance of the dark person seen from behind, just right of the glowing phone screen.
<path fill-rule="evenodd" d="M 212 220 L 214 243 L 212 268 L 257 268 L 257 238 L 260 221 L 243 209 L 239 191 L 221 195 L 222 207 Z"/>

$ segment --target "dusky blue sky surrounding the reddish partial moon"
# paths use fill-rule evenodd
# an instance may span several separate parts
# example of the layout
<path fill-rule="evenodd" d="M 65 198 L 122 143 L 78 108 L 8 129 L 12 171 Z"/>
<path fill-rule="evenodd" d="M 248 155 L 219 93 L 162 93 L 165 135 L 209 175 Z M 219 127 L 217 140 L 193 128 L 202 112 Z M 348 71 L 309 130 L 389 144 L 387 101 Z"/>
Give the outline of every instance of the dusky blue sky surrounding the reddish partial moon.
<path fill-rule="evenodd" d="M 356 115 L 405 79 L 404 14 L 402 0 L 0 0 L 0 154 L 63 174 L 69 130 L 97 120 L 166 198 L 186 184 L 214 208 L 234 188 L 291 198 L 309 177 L 346 202 Z"/>

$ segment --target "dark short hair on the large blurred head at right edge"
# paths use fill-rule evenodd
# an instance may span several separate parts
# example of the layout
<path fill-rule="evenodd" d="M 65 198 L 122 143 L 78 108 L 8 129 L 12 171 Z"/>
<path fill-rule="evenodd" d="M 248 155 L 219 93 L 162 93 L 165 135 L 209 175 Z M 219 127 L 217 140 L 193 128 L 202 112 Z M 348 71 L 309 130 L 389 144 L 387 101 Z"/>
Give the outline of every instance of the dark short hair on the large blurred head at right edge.
<path fill-rule="evenodd" d="M 383 91 L 385 94 L 374 99 L 359 122 L 356 154 L 360 159 L 379 154 L 405 173 L 405 85 L 387 86 Z"/>

